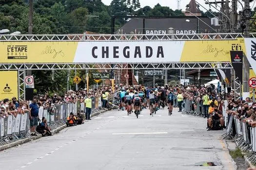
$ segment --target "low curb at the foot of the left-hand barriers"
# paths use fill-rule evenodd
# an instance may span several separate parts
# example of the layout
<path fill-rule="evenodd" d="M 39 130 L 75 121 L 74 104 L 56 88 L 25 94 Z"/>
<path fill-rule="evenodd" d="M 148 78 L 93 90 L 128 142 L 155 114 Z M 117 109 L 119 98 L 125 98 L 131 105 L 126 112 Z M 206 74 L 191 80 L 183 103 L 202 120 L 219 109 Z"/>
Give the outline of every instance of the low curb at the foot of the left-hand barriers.
<path fill-rule="evenodd" d="M 101 110 L 99 112 L 96 112 L 96 113 L 93 113 L 91 117 L 94 117 L 94 116 L 98 116 L 104 112 L 106 112 L 107 110 Z M 54 129 L 52 132 L 53 134 L 57 134 L 59 131 L 65 129 L 67 127 L 66 124 Z M 30 142 L 32 140 L 36 140 L 36 139 L 39 139 L 40 137 L 42 137 L 41 134 L 39 134 L 39 136 L 31 136 L 31 137 L 28 137 L 28 138 L 25 138 L 25 139 L 20 139 L 18 141 L 15 141 L 15 142 L 12 142 L 12 143 L 8 143 L 8 144 L 5 144 L 5 145 L 2 145 L 0 146 L 0 151 L 3 151 L 3 150 L 6 150 L 6 149 L 9 149 L 9 148 L 13 148 L 17 145 L 21 145 L 21 144 L 24 144 L 24 143 L 27 143 L 27 142 Z"/>

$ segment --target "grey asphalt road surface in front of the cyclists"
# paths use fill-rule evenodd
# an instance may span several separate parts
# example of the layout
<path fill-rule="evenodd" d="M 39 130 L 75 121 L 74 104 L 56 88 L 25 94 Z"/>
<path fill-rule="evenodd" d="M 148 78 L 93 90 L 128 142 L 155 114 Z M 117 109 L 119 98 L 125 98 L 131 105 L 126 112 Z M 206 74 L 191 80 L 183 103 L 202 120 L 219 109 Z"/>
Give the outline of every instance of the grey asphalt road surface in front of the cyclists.
<path fill-rule="evenodd" d="M 167 108 L 106 112 L 55 136 L 0 152 L 0 170 L 235 170 L 223 132 Z M 214 162 L 215 167 L 198 167 Z"/>

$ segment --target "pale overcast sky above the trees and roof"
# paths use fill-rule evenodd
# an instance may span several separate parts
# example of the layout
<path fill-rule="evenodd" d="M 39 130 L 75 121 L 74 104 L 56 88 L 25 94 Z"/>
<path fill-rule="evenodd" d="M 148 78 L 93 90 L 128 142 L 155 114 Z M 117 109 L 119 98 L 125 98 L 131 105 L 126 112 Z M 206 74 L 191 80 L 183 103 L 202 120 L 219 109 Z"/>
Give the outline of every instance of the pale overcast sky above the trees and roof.
<path fill-rule="evenodd" d="M 104 4 L 110 5 L 112 0 L 101 0 Z M 204 6 L 207 10 L 209 9 L 209 5 L 205 4 L 204 0 L 196 0 L 198 3 L 200 3 L 202 6 Z M 214 1 L 214 0 L 209 0 Z M 169 6 L 171 9 L 176 10 L 177 9 L 177 0 L 139 0 L 140 6 L 150 6 L 153 8 L 157 3 L 159 3 L 161 6 Z M 180 0 L 180 8 L 182 11 L 185 11 L 186 5 L 189 4 L 190 0 Z M 238 9 L 240 7 L 238 6 Z M 206 10 L 202 7 L 199 7 L 201 11 L 206 12 Z M 211 7 L 213 11 L 216 11 L 213 7 Z M 219 9 L 219 7 L 217 7 Z"/>

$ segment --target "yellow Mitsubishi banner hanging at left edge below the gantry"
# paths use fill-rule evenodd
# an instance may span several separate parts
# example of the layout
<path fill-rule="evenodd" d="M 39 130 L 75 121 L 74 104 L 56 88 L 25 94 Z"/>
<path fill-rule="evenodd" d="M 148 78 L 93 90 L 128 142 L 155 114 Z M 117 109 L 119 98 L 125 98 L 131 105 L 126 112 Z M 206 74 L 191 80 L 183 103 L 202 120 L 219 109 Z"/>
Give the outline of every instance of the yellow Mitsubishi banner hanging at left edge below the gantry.
<path fill-rule="evenodd" d="M 18 71 L 0 71 L 0 100 L 18 99 Z"/>

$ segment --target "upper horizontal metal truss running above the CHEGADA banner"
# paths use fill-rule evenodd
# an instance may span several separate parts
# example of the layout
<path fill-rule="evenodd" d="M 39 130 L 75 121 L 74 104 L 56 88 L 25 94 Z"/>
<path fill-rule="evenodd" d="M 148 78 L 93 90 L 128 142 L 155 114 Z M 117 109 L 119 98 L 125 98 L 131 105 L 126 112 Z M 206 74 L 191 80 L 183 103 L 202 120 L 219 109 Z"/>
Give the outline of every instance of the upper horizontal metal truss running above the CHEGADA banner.
<path fill-rule="evenodd" d="M 252 37 L 256 33 L 251 34 Z M 180 41 L 180 40 L 235 40 L 241 33 L 217 34 L 19 34 L 0 35 L 0 41 Z"/>

